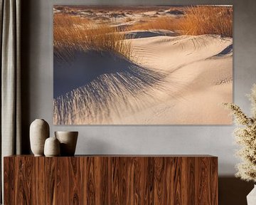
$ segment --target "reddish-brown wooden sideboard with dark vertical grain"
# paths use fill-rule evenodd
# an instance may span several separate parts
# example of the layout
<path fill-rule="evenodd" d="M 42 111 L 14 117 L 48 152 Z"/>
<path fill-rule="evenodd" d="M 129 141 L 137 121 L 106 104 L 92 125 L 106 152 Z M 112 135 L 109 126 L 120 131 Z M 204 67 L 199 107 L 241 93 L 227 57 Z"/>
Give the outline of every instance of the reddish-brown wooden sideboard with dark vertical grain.
<path fill-rule="evenodd" d="M 218 157 L 4 157 L 4 204 L 218 204 Z"/>

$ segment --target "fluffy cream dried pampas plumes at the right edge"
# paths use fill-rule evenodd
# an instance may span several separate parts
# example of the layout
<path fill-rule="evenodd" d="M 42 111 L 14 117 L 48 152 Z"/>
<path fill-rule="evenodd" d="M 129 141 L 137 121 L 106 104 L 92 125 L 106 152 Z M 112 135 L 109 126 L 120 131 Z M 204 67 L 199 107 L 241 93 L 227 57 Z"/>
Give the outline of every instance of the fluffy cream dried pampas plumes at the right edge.
<path fill-rule="evenodd" d="M 251 94 L 248 95 L 251 101 L 252 117 L 248 117 L 240 109 L 238 105 L 233 103 L 223 103 L 232 114 L 238 125 L 235 129 L 235 141 L 240 145 L 240 149 L 236 153 L 242 162 L 237 164 L 238 172 L 236 177 L 240 177 L 245 181 L 256 182 L 256 84 L 252 86 Z"/>

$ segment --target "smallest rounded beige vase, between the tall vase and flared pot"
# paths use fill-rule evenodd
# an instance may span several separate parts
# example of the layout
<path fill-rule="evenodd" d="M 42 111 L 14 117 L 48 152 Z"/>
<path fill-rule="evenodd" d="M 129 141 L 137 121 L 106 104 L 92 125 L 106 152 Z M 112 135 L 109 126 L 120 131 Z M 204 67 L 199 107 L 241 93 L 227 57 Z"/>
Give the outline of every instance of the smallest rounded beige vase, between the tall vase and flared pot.
<path fill-rule="evenodd" d="M 60 156 L 60 142 L 56 137 L 49 137 L 48 139 L 46 139 L 44 154 L 46 155 L 46 157 Z"/>

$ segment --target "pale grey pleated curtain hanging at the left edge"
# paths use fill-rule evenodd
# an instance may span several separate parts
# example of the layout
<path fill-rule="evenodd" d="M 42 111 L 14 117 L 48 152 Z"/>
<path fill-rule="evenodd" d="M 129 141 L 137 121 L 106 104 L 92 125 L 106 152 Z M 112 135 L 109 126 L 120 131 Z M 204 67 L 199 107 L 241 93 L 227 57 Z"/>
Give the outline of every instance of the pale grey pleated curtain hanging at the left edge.
<path fill-rule="evenodd" d="M 0 0 L 1 43 L 1 192 L 3 157 L 21 154 L 21 0 Z M 2 194 L 1 194 L 2 195 Z M 3 196 L 3 195 L 2 195 Z M 2 201 L 1 197 L 1 201 Z"/>

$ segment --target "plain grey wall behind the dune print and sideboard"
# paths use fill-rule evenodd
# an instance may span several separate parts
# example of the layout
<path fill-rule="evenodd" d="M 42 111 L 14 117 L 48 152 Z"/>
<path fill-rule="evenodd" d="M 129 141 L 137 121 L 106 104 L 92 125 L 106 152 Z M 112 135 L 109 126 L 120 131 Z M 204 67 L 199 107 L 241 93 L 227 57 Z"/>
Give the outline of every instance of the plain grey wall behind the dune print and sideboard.
<path fill-rule="evenodd" d="M 50 124 L 51 135 L 57 130 L 78 130 L 76 154 L 213 154 L 219 157 L 220 176 L 233 175 L 235 159 L 232 132 L 234 126 L 163 125 L 163 126 L 53 126 L 53 4 L 68 0 L 22 1 L 23 69 L 23 144 L 28 147 L 28 126 L 36 118 Z M 107 1 L 82 1 L 75 4 L 102 4 Z M 108 1 L 118 4 L 122 1 Z M 129 0 L 126 4 L 181 4 L 181 1 Z M 234 102 L 249 112 L 250 93 L 256 83 L 256 2 L 183 1 L 183 4 L 234 5 Z M 28 150 L 25 150 L 25 152 Z"/>

